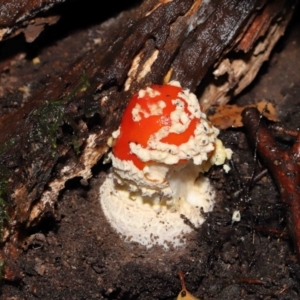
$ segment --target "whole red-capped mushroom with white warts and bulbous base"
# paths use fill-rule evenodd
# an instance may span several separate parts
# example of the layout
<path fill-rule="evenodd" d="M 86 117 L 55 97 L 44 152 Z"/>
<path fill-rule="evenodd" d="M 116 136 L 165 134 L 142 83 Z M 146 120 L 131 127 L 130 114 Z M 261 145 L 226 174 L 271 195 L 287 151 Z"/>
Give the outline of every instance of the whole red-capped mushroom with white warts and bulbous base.
<path fill-rule="evenodd" d="M 177 81 L 131 98 L 112 134 L 113 172 L 100 188 L 103 212 L 126 241 L 178 247 L 204 222 L 215 192 L 203 174 L 232 153 L 218 133 Z"/>

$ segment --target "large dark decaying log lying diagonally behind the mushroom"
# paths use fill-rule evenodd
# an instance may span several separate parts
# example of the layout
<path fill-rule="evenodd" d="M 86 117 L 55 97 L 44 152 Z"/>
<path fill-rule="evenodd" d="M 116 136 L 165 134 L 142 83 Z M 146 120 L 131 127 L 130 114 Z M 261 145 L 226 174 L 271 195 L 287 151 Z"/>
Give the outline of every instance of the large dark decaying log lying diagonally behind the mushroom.
<path fill-rule="evenodd" d="M 141 87 L 179 80 L 184 88 L 198 91 L 205 107 L 240 91 L 239 82 L 244 80 L 244 87 L 251 81 L 284 31 L 291 4 L 142 2 L 117 37 L 75 62 L 13 116 L 0 120 L 0 198 L 9 216 L 4 240 L 17 241 L 11 237 L 20 228 L 55 215 L 57 195 L 67 180 L 92 176 L 91 168 L 107 152 L 106 141 L 129 97 Z M 231 66 L 224 67 L 227 61 Z M 241 62 L 249 66 L 235 74 Z M 228 73 L 222 92 L 219 87 L 207 92 L 218 85 L 213 70 L 220 78 Z"/>

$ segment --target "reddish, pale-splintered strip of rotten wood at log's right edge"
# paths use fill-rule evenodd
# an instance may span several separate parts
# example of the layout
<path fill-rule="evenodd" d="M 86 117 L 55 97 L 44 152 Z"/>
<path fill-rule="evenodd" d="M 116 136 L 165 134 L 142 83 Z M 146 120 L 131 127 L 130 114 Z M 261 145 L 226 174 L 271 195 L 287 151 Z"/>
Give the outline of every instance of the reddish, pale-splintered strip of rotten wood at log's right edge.
<path fill-rule="evenodd" d="M 259 14 L 252 16 L 248 29 L 241 34 L 234 51 L 228 52 L 220 60 L 208 79 L 200 97 L 204 108 L 212 104 L 226 104 L 253 81 L 276 42 L 284 34 L 295 3 L 290 3 L 287 9 L 287 2 L 272 1 Z M 278 14 L 281 10 L 286 10 L 283 19 Z"/>

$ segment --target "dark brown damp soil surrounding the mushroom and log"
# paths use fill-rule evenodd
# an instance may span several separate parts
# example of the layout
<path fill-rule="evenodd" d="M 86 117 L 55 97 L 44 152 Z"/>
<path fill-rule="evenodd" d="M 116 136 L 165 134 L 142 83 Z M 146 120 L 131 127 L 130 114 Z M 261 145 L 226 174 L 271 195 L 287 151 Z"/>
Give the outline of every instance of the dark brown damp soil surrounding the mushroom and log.
<path fill-rule="evenodd" d="M 106 28 L 122 18 L 96 19 L 80 9 L 77 17 L 76 10 L 72 16 L 66 12 L 33 44 L 21 36 L 0 44 L 1 115 L 27 101 L 20 87 L 33 93 L 49 76 L 59 76 L 97 39 L 105 40 Z M 78 16 L 85 13 L 90 22 L 79 27 Z M 112 9 L 109 17 L 113 13 Z M 295 18 L 270 62 L 235 99 L 240 104 L 269 99 L 292 128 L 300 126 L 299 33 Z M 32 63 L 34 57 L 39 64 Z M 3 282 L 1 299 L 174 299 L 180 291 L 179 270 L 188 290 L 202 300 L 300 298 L 300 267 L 272 178 L 266 173 L 250 186 L 254 168 L 259 173 L 264 166 L 255 163 L 243 129 L 227 130 L 220 138 L 234 151 L 235 168 L 229 174 L 217 167 L 209 172 L 217 205 L 203 227 L 188 237 L 185 248 L 165 252 L 122 241 L 99 205 L 99 186 L 109 172 L 100 162 L 88 185 L 68 182 L 58 201 L 58 219 L 46 219 L 28 232 L 20 245 L 23 253 L 7 262 L 21 276 Z M 232 223 L 237 209 L 242 219 Z"/>

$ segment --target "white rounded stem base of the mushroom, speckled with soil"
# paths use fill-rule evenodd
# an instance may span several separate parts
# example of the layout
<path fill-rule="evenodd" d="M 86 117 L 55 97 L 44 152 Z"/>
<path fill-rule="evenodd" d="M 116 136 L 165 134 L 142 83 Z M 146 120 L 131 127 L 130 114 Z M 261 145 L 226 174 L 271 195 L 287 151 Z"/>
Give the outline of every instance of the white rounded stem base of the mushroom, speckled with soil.
<path fill-rule="evenodd" d="M 184 223 L 181 215 L 199 227 L 205 221 L 201 208 L 204 212 L 213 209 L 214 192 L 209 180 L 203 177 L 196 183 L 197 190 L 201 190 L 197 203 L 179 199 L 173 205 L 167 205 L 164 200 L 153 203 L 150 198 L 136 195 L 132 200 L 126 187 L 116 186 L 113 174 L 110 174 L 100 188 L 100 203 L 109 223 L 125 241 L 138 242 L 147 248 L 160 245 L 167 250 L 171 245 L 183 246 L 185 235 L 193 230 Z"/>

